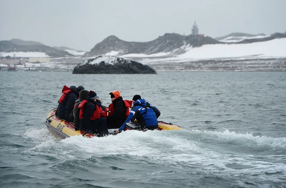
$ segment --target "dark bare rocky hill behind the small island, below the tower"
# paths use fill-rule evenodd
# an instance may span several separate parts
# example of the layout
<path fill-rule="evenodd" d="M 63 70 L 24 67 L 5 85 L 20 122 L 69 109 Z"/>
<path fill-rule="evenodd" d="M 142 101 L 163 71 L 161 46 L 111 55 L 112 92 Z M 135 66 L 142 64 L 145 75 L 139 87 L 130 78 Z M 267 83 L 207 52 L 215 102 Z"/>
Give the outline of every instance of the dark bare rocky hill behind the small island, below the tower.
<path fill-rule="evenodd" d="M 176 33 L 166 33 L 159 36 L 157 39 L 149 42 L 127 42 L 112 35 L 104 39 L 102 42 L 96 44 L 90 52 L 87 52 L 85 57 L 92 57 L 96 55 L 103 55 L 111 51 L 117 51 L 117 55 L 124 55 L 130 53 L 170 53 L 176 55 L 185 52 L 187 47 L 199 47 L 204 44 L 221 43 L 210 37 L 202 37 L 199 35 L 180 35 Z"/>

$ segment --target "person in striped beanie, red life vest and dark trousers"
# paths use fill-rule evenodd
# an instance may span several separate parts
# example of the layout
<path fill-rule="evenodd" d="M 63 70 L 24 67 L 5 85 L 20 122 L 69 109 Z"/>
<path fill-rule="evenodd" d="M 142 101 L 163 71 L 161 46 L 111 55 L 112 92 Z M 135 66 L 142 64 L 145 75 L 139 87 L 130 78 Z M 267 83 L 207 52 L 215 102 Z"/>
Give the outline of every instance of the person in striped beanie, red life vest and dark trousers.
<path fill-rule="evenodd" d="M 88 93 L 78 108 L 80 109 L 80 130 L 96 134 L 98 137 L 108 135 L 106 119 L 101 117 L 101 108 L 96 104 L 97 95 L 94 91 Z"/>

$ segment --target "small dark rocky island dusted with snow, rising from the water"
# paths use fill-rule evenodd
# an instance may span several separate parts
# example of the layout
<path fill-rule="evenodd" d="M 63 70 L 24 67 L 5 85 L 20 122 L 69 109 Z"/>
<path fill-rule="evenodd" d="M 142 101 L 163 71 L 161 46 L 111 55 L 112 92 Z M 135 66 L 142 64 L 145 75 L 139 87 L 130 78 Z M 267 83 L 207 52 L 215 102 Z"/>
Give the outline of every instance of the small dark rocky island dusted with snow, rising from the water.
<path fill-rule="evenodd" d="M 117 56 L 99 55 L 77 65 L 73 74 L 156 74 L 148 65 Z"/>

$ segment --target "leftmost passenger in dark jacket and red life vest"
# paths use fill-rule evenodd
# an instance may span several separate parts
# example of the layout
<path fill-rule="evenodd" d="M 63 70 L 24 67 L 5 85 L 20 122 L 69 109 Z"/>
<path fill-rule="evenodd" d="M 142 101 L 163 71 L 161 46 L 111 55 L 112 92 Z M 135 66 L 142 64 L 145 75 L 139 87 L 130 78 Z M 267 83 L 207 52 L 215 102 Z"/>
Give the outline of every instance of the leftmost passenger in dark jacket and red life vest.
<path fill-rule="evenodd" d="M 69 121 L 69 114 L 74 109 L 75 98 L 78 99 L 80 93 L 79 91 L 84 89 L 84 87 L 76 86 L 67 87 L 66 85 L 63 86 L 61 97 L 59 98 L 59 105 L 55 112 L 55 115 L 60 119 L 64 119 L 65 121 Z"/>

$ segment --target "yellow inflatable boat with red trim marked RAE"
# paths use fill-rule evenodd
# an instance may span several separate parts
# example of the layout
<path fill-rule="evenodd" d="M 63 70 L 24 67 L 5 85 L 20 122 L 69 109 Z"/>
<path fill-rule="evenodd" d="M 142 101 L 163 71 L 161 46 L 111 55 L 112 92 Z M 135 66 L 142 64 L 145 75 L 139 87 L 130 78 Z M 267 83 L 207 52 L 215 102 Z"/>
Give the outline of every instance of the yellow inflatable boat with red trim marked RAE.
<path fill-rule="evenodd" d="M 46 125 L 47 125 L 47 129 L 49 129 L 49 131 L 51 131 L 54 135 L 65 139 L 71 136 L 80 136 L 82 135 L 83 137 L 87 137 L 87 138 L 91 138 L 94 137 L 96 135 L 94 134 L 90 134 L 90 133 L 86 133 L 84 131 L 76 131 L 74 129 L 74 123 L 70 123 L 68 121 L 65 121 L 63 119 L 59 119 L 56 115 L 55 115 L 55 111 L 57 108 L 52 109 L 49 114 L 47 115 L 47 120 L 46 120 Z M 172 123 L 166 123 L 163 121 L 158 121 L 158 130 L 179 130 L 182 129 L 178 126 L 173 125 Z M 130 130 L 130 128 L 128 129 Z"/>

